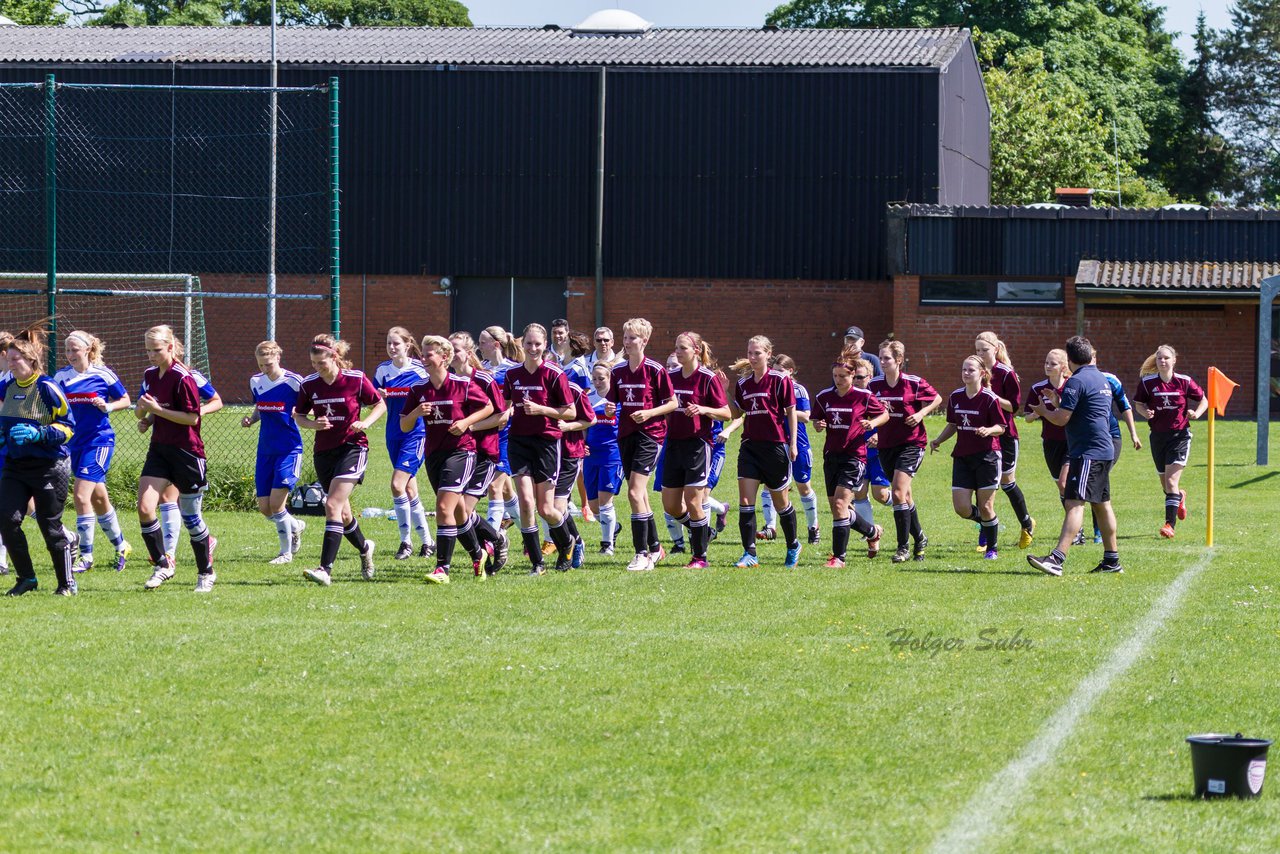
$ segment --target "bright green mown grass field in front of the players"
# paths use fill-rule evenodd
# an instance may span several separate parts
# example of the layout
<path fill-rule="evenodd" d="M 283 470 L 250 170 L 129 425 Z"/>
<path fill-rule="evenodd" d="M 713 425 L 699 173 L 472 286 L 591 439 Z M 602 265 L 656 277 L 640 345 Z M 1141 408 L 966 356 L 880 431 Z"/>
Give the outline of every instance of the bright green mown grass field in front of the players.
<path fill-rule="evenodd" d="M 824 542 L 795 571 L 781 543 L 733 570 L 731 520 L 712 570 L 631 575 L 622 548 L 529 579 L 517 545 L 512 571 L 436 588 L 389 560 L 394 522 L 366 520 L 376 581 L 344 545 L 321 589 L 301 577 L 319 536 L 269 567 L 274 529 L 248 513 L 210 515 L 209 597 L 186 544 L 155 593 L 134 560 L 58 599 L 44 558 L 41 590 L 0 616 L 0 848 L 928 850 L 968 827 L 982 850 L 1277 850 L 1280 781 L 1190 798 L 1184 736 L 1280 734 L 1280 479 L 1252 465 L 1252 424 L 1221 424 L 1206 549 L 1206 434 L 1172 542 L 1149 456 L 1125 452 L 1121 576 L 1087 574 L 1094 545 L 1043 576 L 1007 529 L 1000 561 L 979 560 L 941 455 L 916 484 L 929 558 L 900 567 L 822 568 Z M 1019 480 L 1047 552 L 1061 510 L 1034 438 Z M 381 465 L 357 497 L 389 507 L 387 481 Z M 599 529 L 582 530 L 590 553 Z M 1132 667 L 1073 700 L 1181 584 Z M 963 647 L 893 645 L 899 630 Z M 1064 708 L 1060 743 L 992 790 Z"/>

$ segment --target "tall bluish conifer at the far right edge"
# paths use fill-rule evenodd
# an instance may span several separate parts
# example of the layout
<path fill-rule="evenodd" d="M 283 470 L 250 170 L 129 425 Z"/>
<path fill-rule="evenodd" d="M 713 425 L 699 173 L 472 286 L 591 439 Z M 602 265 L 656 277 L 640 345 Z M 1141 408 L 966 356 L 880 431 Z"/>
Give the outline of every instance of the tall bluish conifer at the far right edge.
<path fill-rule="evenodd" d="M 1217 50 L 1213 106 L 1239 152 L 1240 201 L 1280 204 L 1280 5 L 1236 0 Z"/>

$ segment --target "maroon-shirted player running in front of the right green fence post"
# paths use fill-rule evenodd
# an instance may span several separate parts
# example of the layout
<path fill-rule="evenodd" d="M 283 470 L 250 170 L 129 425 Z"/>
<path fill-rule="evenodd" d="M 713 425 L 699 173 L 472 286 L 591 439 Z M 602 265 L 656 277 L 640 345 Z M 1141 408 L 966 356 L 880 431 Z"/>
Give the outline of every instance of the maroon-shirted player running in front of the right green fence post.
<path fill-rule="evenodd" d="M 342 538 L 360 552 L 360 571 L 365 580 L 374 577 L 374 540 L 365 539 L 360 522 L 351 512 L 351 493 L 365 480 L 369 465 L 369 437 L 378 419 L 387 414 L 387 402 L 364 371 L 353 370 L 347 361 L 348 344 L 333 335 L 316 335 L 311 341 L 311 366 L 316 370 L 302 380 L 293 420 L 305 430 L 316 430 L 315 466 L 320 487 L 325 490 L 324 544 L 320 566 L 305 570 L 308 581 L 329 586 L 333 562 L 338 560 Z M 361 407 L 369 417 L 361 419 Z M 311 417 L 315 412 L 315 417 Z"/>

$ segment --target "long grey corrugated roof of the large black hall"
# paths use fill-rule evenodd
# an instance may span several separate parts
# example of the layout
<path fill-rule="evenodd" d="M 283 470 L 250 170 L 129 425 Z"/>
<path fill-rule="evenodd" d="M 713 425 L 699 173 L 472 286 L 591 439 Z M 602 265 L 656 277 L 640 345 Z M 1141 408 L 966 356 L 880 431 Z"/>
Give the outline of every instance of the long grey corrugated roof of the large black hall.
<path fill-rule="evenodd" d="M 284 64 L 943 68 L 969 31 L 283 27 Z M 3 27 L 0 63 L 268 63 L 266 27 Z"/>

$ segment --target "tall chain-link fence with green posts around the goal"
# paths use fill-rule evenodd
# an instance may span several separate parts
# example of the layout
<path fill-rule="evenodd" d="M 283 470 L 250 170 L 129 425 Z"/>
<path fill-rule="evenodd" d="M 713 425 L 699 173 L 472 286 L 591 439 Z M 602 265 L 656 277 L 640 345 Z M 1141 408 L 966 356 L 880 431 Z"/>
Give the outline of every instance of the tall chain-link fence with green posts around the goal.
<path fill-rule="evenodd" d="M 202 430 L 215 494 L 252 498 L 253 347 L 274 337 L 308 373 L 305 344 L 337 332 L 337 81 L 0 85 L 0 328 L 52 318 L 50 374 L 88 330 L 137 394 L 143 333 L 173 325 L 228 405 Z M 118 429 L 122 479 L 145 444 Z"/>

